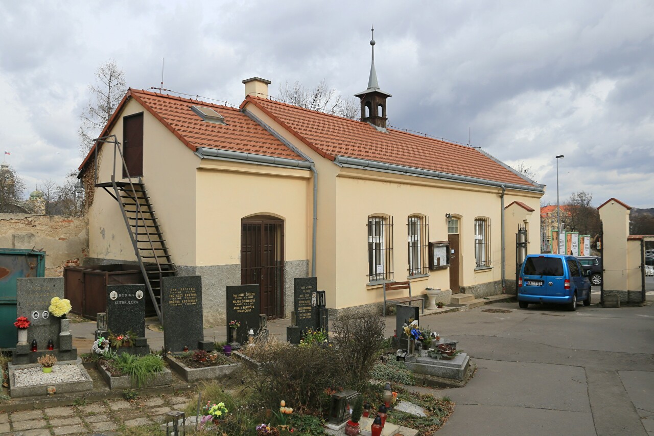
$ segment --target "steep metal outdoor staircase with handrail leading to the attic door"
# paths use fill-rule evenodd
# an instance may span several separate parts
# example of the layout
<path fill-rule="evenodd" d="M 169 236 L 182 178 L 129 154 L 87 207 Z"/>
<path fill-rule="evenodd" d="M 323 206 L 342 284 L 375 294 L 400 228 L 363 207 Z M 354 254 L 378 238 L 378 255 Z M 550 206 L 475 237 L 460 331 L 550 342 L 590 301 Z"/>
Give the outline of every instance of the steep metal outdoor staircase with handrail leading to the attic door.
<path fill-rule="evenodd" d="M 163 277 L 175 276 L 175 268 L 143 180 L 139 177 L 135 182 L 129 177 L 122 151 L 118 147 L 120 143 L 112 137 L 113 141 L 107 140 L 107 137 L 99 138 L 103 142 L 114 143 L 114 173 L 111 175 L 111 182 L 95 183 L 95 186 L 107 191 L 120 206 L 150 300 L 159 321 L 162 322 L 161 282 Z M 116 150 L 120 153 L 122 170 L 126 172 L 128 181 L 116 181 Z"/>

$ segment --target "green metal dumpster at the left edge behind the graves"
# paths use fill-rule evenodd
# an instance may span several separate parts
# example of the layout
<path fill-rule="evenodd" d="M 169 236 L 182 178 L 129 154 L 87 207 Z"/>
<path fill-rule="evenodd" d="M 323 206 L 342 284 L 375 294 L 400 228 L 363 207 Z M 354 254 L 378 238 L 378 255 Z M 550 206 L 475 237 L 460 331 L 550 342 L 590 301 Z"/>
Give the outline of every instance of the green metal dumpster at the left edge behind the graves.
<path fill-rule="evenodd" d="M 0 350 L 16 348 L 16 279 L 45 276 L 45 251 L 0 248 Z"/>

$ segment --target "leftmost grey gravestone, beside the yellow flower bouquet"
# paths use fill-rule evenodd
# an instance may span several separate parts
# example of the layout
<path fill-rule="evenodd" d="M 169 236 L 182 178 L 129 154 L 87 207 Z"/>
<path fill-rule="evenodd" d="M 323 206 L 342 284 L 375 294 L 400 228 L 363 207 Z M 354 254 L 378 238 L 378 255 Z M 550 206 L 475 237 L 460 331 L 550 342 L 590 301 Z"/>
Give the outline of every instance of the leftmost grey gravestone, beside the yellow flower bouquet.
<path fill-rule="evenodd" d="M 27 317 L 30 325 L 27 329 L 27 345 L 16 346 L 14 364 L 35 363 L 37 357 L 46 353 L 55 355 L 60 361 L 77 359 L 73 336 L 68 331 L 69 320 L 57 318 L 48 310 L 50 300 L 54 297 L 63 299 L 63 278 L 16 280 L 16 315 Z M 65 328 L 63 331 L 62 325 Z M 37 341 L 37 352 L 31 352 L 33 340 Z M 50 340 L 53 350 L 48 350 Z"/>

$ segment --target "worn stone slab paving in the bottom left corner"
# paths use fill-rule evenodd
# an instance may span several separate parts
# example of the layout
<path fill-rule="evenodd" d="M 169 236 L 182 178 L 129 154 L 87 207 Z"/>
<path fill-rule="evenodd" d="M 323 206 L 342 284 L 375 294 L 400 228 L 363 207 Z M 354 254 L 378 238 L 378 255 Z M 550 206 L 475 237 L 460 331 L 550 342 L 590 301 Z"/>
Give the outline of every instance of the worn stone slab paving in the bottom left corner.
<path fill-rule="evenodd" d="M 185 409 L 191 399 L 190 394 L 162 395 L 0 412 L 0 436 L 129 435 L 133 427 L 163 422 L 167 412 Z"/>

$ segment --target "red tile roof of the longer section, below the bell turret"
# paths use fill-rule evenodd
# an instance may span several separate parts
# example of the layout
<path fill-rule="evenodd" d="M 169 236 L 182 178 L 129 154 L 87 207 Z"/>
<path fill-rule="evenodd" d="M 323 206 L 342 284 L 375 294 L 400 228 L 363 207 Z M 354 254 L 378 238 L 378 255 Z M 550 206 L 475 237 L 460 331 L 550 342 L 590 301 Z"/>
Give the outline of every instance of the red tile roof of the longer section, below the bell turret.
<path fill-rule="evenodd" d="M 479 179 L 534 186 L 485 154 L 430 137 L 388 129 L 379 132 L 367 122 L 336 117 L 301 107 L 248 96 L 248 103 L 264 111 L 321 156 L 360 158 L 451 173 Z"/>

